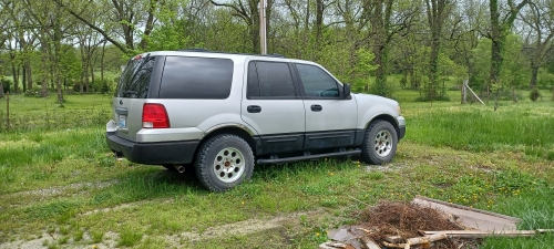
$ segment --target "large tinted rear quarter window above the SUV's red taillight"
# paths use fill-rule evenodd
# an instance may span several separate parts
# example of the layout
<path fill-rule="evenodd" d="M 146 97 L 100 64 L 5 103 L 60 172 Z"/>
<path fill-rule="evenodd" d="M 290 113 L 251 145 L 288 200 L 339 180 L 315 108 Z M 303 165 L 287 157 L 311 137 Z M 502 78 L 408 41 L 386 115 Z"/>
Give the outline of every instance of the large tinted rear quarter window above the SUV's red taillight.
<path fill-rule="evenodd" d="M 167 56 L 161 98 L 227 98 L 233 83 L 229 59 Z"/>

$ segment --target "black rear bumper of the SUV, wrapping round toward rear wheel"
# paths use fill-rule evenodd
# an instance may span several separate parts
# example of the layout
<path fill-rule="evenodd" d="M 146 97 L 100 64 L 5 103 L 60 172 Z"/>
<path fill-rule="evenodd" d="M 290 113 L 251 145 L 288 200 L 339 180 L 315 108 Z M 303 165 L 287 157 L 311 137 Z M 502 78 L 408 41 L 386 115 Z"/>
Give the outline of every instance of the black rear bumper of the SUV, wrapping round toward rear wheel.
<path fill-rule="evenodd" d="M 106 132 L 107 147 L 137 164 L 189 164 L 199 141 L 134 143 L 119 137 L 115 132 Z"/>

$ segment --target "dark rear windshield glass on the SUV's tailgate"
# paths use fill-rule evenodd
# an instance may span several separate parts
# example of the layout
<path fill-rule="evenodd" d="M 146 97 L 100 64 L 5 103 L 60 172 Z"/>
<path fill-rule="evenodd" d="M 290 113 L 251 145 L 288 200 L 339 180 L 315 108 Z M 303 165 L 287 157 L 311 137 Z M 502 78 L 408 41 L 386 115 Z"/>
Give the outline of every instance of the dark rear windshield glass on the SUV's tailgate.
<path fill-rule="evenodd" d="M 131 59 L 117 83 L 116 97 L 146 98 L 155 56 Z"/>

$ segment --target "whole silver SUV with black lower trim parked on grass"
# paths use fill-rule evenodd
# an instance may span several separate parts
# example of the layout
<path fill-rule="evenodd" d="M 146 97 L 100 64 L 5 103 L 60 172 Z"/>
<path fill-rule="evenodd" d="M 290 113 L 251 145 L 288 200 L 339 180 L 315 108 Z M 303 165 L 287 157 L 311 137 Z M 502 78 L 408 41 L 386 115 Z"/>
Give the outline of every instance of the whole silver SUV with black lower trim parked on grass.
<path fill-rule="evenodd" d="M 161 51 L 131 59 L 113 98 L 107 146 L 225 191 L 255 164 L 360 155 L 390 162 L 404 136 L 398 102 L 350 93 L 322 66 L 283 56 Z"/>

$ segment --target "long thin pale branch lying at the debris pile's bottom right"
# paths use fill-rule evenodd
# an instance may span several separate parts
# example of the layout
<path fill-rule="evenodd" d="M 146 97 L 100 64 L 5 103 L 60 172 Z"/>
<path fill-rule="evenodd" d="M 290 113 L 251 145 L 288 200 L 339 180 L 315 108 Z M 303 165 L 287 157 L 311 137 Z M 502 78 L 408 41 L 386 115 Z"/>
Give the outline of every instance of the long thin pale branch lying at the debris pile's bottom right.
<path fill-rule="evenodd" d="M 541 230 L 541 231 L 538 231 Z M 468 230 L 444 230 L 444 231 L 423 231 L 425 235 L 444 234 L 450 238 L 486 238 L 486 237 L 519 237 L 519 236 L 534 236 L 536 234 L 544 234 L 554 231 L 553 229 L 538 229 L 538 230 L 500 230 L 500 231 L 468 231 Z"/>

